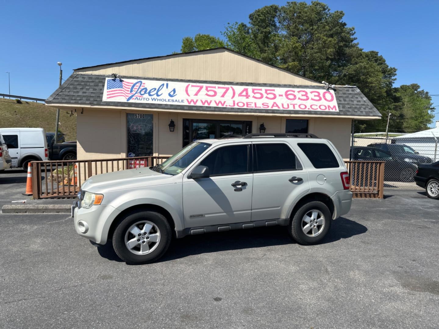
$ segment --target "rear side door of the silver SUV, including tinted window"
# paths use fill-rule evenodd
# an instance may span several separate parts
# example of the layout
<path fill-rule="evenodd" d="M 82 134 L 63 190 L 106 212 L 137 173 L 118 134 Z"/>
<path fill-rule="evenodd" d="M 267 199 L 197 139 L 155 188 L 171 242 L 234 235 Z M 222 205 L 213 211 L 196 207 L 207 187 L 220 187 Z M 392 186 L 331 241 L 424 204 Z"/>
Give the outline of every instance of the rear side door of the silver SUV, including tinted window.
<path fill-rule="evenodd" d="M 308 173 L 286 142 L 253 142 L 253 156 L 252 221 L 285 218 L 295 198 L 309 190 Z"/>

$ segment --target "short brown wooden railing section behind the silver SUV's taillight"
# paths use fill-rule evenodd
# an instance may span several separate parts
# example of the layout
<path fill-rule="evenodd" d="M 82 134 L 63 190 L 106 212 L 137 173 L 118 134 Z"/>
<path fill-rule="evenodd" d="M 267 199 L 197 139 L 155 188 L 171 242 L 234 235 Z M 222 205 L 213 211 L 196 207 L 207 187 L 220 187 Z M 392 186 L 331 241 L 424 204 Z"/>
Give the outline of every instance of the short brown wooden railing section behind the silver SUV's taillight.
<path fill-rule="evenodd" d="M 354 198 L 384 197 L 384 161 L 345 161 Z"/>

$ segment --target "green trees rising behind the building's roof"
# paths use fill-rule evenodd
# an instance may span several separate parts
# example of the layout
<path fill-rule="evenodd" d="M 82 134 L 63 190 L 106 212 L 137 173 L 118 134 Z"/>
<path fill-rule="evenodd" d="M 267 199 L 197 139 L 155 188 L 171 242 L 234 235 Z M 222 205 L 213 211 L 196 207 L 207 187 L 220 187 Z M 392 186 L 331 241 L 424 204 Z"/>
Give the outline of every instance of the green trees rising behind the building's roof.
<path fill-rule="evenodd" d="M 390 131 L 412 132 L 428 127 L 433 118 L 428 93 L 418 90 L 417 85 L 394 88 L 396 68 L 390 67 L 377 51 L 360 48 L 355 29 L 348 27 L 343 17 L 343 11 L 331 12 L 319 1 L 265 6 L 248 16 L 248 24 L 228 23 L 221 32 L 225 42 L 198 34 L 194 39 L 183 39 L 182 51 L 225 44 L 238 53 L 309 79 L 357 86 L 382 118 L 356 121 L 356 132 L 385 129 L 389 112 Z"/>

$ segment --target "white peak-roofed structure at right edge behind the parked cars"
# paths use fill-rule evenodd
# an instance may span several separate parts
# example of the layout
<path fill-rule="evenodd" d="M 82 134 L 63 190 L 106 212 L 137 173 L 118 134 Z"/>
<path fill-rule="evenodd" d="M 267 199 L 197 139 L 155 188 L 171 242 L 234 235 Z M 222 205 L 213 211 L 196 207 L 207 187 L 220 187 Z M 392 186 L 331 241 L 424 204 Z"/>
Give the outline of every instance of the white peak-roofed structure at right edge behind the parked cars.
<path fill-rule="evenodd" d="M 435 128 L 393 137 L 392 143 L 405 144 L 435 162 L 439 160 L 438 139 L 439 121 L 436 121 Z"/>

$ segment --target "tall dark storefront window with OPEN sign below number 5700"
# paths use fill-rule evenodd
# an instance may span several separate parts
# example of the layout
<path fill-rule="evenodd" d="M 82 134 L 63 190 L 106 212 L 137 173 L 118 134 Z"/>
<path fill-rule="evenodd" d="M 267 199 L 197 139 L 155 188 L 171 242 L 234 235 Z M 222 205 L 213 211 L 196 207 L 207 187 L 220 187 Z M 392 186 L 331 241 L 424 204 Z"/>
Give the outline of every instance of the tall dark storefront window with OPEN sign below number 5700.
<path fill-rule="evenodd" d="M 126 114 L 126 137 L 129 157 L 152 155 L 152 114 Z"/>

